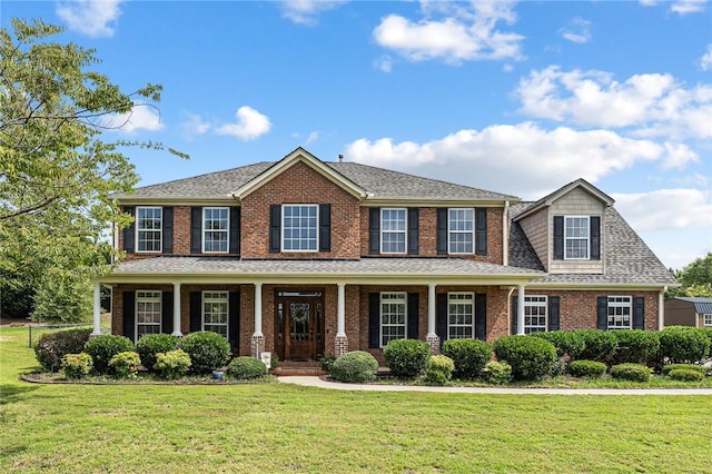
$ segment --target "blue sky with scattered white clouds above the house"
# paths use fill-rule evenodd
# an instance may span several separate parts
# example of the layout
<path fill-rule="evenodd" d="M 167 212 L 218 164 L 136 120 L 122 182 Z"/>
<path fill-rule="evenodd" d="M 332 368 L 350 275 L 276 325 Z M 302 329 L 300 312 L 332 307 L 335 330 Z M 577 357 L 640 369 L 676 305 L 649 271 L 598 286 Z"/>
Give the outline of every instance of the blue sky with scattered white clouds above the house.
<path fill-rule="evenodd" d="M 125 91 L 161 83 L 110 139 L 141 185 L 303 146 L 537 199 L 583 177 L 662 261 L 712 251 L 705 1 L 2 1 L 97 49 Z M 116 124 L 125 118 L 117 117 Z"/>

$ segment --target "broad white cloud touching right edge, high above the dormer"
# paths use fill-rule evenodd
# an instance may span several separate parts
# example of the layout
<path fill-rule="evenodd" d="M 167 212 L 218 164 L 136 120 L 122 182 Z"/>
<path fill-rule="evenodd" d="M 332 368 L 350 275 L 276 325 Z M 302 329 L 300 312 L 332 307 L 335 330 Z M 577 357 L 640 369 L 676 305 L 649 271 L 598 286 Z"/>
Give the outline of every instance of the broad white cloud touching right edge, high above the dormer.
<path fill-rule="evenodd" d="M 634 127 L 642 137 L 712 138 L 712 86 L 685 89 L 671 75 L 635 75 L 619 82 L 602 71 L 551 66 L 520 81 L 520 112 L 583 126 Z"/>

